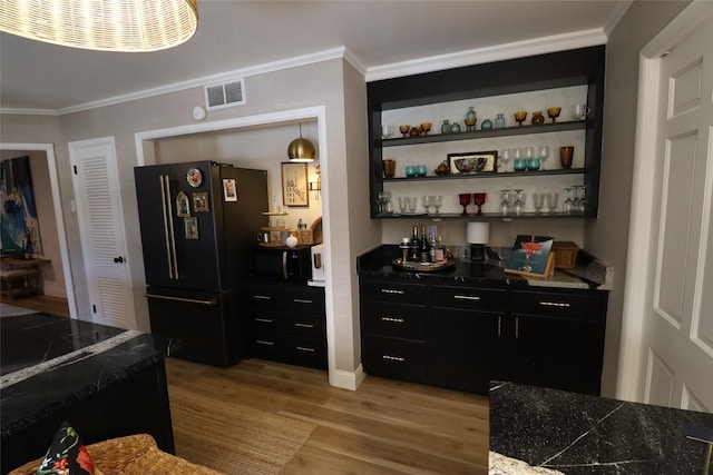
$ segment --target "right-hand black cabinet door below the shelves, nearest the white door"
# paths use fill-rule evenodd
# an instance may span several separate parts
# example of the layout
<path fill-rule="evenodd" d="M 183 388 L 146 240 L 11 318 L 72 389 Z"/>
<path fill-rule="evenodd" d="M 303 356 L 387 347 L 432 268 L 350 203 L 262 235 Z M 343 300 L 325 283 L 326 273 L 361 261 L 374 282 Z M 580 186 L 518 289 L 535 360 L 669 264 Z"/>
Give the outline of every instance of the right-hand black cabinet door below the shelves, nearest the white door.
<path fill-rule="evenodd" d="M 512 315 L 512 380 L 599 395 L 604 328 L 574 318 Z"/>

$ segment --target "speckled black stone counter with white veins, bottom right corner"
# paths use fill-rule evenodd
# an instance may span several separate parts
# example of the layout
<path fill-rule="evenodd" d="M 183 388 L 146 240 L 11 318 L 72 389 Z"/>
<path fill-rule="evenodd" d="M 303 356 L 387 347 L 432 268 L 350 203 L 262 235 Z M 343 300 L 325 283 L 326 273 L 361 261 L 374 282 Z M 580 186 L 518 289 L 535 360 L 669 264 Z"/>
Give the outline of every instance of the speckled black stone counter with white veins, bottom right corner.
<path fill-rule="evenodd" d="M 702 475 L 692 426 L 710 433 L 713 414 L 492 383 L 490 474 Z"/>

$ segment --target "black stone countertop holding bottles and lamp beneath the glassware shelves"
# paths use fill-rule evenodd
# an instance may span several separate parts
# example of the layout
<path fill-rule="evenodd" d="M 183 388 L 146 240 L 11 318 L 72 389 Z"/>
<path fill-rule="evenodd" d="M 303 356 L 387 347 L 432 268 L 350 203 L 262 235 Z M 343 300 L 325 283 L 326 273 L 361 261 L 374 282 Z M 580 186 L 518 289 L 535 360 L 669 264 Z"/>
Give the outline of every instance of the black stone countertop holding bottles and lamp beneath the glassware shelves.
<path fill-rule="evenodd" d="M 612 288 L 613 269 L 605 263 L 580 250 L 574 269 L 557 269 L 547 278 L 525 278 L 504 271 L 507 258 L 506 249 L 489 249 L 490 259 L 482 264 L 456 259 L 456 266 L 436 273 L 414 273 L 394 268 L 391 260 L 401 257 L 398 245 L 379 246 L 356 258 L 356 271 L 372 277 L 395 279 L 428 279 L 438 281 L 457 281 L 505 286 L 530 286 L 553 288 L 580 288 L 609 290 Z M 499 259 L 498 259 L 499 257 Z"/>

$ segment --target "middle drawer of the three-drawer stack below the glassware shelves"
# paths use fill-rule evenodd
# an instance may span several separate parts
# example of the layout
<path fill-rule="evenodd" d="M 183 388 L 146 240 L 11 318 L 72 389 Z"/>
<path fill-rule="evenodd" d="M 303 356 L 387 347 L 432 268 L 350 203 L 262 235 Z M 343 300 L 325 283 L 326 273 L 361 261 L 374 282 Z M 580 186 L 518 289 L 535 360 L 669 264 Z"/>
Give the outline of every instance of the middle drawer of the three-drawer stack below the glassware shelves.
<path fill-rule="evenodd" d="M 426 315 L 423 306 L 367 301 L 361 309 L 361 325 L 368 334 L 424 340 Z"/>

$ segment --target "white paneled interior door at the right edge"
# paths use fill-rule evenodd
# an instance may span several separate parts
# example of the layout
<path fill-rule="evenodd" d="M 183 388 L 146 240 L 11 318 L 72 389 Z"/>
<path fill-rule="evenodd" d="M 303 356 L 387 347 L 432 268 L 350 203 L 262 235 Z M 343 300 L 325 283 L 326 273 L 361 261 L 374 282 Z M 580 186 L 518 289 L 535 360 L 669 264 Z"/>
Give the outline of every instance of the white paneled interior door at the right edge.
<path fill-rule="evenodd" d="M 642 313 L 638 394 L 645 403 L 704 412 L 713 410 L 711 44 L 713 21 L 660 61 L 655 150 L 639 164 L 652 167 L 651 189 L 635 190 L 651 191 L 638 197 L 651 205 L 633 209 L 651 219 L 633 230 L 644 236 L 634 246 L 644 249 L 631 249 L 642 258 L 629 260 L 627 276 L 645 281 L 633 308 Z"/>

